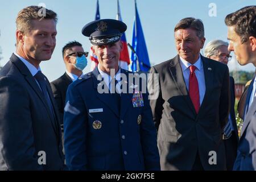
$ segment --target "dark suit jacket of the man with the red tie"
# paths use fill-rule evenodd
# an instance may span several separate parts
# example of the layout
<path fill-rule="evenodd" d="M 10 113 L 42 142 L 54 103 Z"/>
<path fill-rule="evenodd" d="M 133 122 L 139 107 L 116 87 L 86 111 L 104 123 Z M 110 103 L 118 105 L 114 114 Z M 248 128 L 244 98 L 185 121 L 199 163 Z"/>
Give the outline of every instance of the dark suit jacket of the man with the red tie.
<path fill-rule="evenodd" d="M 150 73 L 159 73 L 159 97 L 150 100 L 150 105 L 158 128 L 162 170 L 191 170 L 197 151 L 205 170 L 226 169 L 222 131 L 229 113 L 229 70 L 217 61 L 203 56 L 201 59 L 206 90 L 198 114 L 189 97 L 178 55 L 151 68 Z M 210 151 L 217 154 L 216 165 L 208 162 Z"/>

